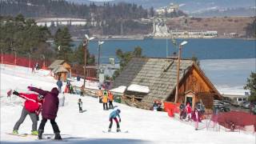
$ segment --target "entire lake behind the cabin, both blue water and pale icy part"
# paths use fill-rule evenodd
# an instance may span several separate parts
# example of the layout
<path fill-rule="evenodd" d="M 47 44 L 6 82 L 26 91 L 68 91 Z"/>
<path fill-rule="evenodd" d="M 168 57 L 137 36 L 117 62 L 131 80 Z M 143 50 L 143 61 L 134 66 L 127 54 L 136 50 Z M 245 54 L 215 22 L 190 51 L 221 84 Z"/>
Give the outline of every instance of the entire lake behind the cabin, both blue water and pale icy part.
<path fill-rule="evenodd" d="M 243 86 L 251 72 L 256 72 L 256 41 L 243 39 L 186 39 L 182 47 L 182 58 L 198 57 L 202 70 L 221 94 L 244 94 Z M 79 45 L 82 41 L 74 42 Z M 182 42 L 178 39 L 178 42 Z M 178 52 L 170 40 L 108 40 L 102 45 L 101 63 L 116 58 L 115 51 L 132 51 L 134 47 L 142 47 L 142 55 L 151 58 L 166 58 Z M 90 54 L 98 59 L 98 42 L 89 45 Z M 118 59 L 116 59 L 118 62 Z"/>

